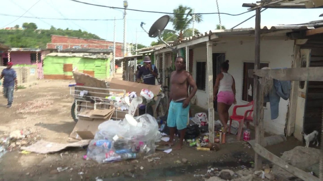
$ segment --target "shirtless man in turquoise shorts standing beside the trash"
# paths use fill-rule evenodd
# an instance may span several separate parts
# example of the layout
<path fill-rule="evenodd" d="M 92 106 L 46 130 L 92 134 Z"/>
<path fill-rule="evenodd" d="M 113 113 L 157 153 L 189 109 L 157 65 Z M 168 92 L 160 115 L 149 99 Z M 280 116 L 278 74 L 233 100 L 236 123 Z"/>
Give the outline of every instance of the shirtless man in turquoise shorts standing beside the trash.
<path fill-rule="evenodd" d="M 167 126 L 170 128 L 170 139 L 167 144 L 174 144 L 174 134 L 177 127 L 181 136 L 174 150 L 178 150 L 183 147 L 190 101 L 197 91 L 197 86 L 192 75 L 185 70 L 185 60 L 183 57 L 177 57 L 175 59 L 175 68 L 176 70 L 171 75 L 171 90 L 168 103 Z M 188 95 L 189 86 L 192 87 L 190 95 Z"/>

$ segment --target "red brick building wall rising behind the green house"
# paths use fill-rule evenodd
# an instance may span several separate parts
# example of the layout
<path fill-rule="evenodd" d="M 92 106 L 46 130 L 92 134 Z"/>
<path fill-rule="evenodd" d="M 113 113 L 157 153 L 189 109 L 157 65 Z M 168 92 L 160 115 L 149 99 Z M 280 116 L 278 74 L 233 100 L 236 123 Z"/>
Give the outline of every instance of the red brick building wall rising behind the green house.
<path fill-rule="evenodd" d="M 51 43 L 47 43 L 47 48 L 56 48 L 56 46 L 63 46 L 63 49 L 73 48 L 74 46 L 80 46 L 80 48 L 108 49 L 109 46 L 113 46 L 113 42 L 52 35 Z M 123 57 L 121 49 L 122 43 L 116 42 L 116 57 Z"/>

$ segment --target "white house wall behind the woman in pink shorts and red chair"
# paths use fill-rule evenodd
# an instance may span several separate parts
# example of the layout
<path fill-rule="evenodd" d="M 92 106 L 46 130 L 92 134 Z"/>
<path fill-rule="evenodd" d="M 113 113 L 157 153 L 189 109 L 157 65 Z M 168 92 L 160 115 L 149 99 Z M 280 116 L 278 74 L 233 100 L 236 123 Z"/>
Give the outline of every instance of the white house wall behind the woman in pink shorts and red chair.
<path fill-rule="evenodd" d="M 269 63 L 270 68 L 291 68 L 293 56 L 294 41 L 288 40 L 270 40 L 261 41 L 261 63 Z M 196 62 L 206 61 L 206 47 L 198 47 L 193 49 L 193 77 L 196 77 Z M 213 46 L 213 53 L 225 53 L 225 59 L 228 59 L 230 68 L 229 73 L 235 79 L 236 100 L 237 105 L 247 104 L 242 101 L 242 81 L 243 81 L 243 62 L 254 62 L 255 59 L 255 43 L 231 41 L 226 43 L 218 43 Z M 206 80 L 207 81 L 207 80 Z M 208 90 L 207 84 L 205 90 Z M 206 91 L 198 90 L 196 93 L 196 104 L 205 109 L 208 108 L 208 97 Z M 267 132 L 273 134 L 284 134 L 287 104 L 289 100 L 280 99 L 279 116 L 275 120 L 270 118 L 270 104 L 267 103 L 264 112 L 264 128 Z M 238 109 L 238 114 L 244 114 L 246 109 Z M 233 106 L 229 110 L 231 115 Z"/>

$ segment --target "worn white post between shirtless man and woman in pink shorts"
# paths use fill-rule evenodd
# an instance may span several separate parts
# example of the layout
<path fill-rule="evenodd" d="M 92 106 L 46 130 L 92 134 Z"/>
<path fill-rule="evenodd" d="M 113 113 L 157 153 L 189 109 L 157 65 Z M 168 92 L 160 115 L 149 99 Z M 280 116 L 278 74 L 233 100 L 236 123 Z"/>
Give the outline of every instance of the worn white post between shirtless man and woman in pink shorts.
<path fill-rule="evenodd" d="M 214 143 L 214 107 L 213 107 L 213 59 L 212 59 L 212 41 L 206 42 L 207 54 L 207 86 L 208 86 L 208 113 L 209 113 L 209 142 Z"/>

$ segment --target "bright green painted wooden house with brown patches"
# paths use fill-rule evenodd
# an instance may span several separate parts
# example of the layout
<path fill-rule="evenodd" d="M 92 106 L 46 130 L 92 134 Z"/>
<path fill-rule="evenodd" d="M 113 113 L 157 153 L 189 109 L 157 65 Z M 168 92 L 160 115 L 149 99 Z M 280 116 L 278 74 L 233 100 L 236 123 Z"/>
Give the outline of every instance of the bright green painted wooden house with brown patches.
<path fill-rule="evenodd" d="M 93 53 L 49 53 L 43 61 L 45 79 L 73 79 L 73 69 L 98 79 L 110 76 L 112 55 Z"/>

